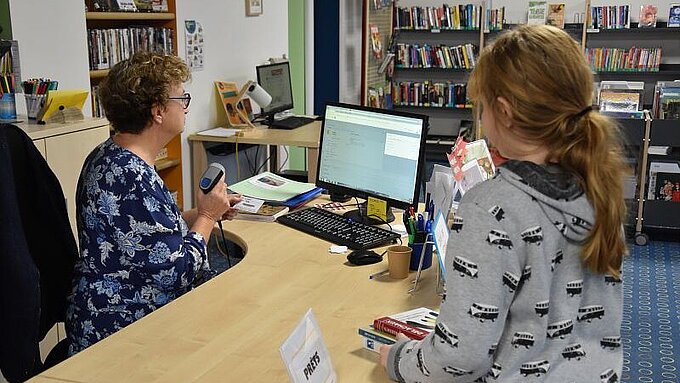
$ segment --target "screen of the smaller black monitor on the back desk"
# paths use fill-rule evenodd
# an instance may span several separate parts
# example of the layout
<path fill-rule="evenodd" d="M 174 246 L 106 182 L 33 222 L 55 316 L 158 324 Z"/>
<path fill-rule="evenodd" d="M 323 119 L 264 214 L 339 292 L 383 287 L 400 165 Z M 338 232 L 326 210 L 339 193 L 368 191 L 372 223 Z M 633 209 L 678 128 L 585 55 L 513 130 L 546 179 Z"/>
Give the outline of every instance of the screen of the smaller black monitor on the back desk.
<path fill-rule="evenodd" d="M 257 83 L 272 96 L 271 104 L 262 108 L 262 114 L 273 115 L 293 109 L 293 87 L 288 62 L 259 65 L 255 69 Z"/>

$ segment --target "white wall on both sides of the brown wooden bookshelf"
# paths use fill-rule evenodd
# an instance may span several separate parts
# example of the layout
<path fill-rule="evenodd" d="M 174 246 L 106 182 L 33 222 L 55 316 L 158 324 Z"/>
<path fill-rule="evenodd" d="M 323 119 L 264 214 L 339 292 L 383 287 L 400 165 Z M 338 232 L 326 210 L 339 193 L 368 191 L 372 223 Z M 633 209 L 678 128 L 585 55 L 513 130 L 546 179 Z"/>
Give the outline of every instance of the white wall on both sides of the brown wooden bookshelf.
<path fill-rule="evenodd" d="M 245 16 L 245 2 L 241 0 L 176 2 L 179 56 L 185 57 L 185 20 L 200 22 L 205 37 L 205 67 L 194 72 L 192 82 L 186 85 L 192 97 L 182 134 L 184 200 L 188 208 L 191 153 L 186 137 L 223 123 L 218 120 L 223 114 L 218 114 L 213 81 L 242 85 L 256 80 L 257 64 L 288 53 L 288 2 L 267 1 L 262 15 L 257 17 Z M 48 77 L 59 80 L 59 89 L 90 89 L 84 10 L 83 0 L 10 0 L 12 36 L 19 40 L 23 79 Z M 23 97 L 17 98 L 17 112 L 26 113 Z M 83 113 L 91 115 L 89 102 Z"/>

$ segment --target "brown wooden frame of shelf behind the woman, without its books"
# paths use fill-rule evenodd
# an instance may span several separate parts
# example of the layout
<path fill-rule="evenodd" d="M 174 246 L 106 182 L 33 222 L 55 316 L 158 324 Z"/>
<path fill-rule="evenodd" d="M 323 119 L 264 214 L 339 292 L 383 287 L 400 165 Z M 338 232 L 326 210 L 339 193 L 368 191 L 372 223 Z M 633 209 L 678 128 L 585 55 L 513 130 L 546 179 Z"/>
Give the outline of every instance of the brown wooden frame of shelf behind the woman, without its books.
<path fill-rule="evenodd" d="M 172 30 L 172 52 L 177 54 L 176 0 L 168 0 L 167 12 L 85 12 L 87 29 L 127 28 L 151 26 Z M 108 69 L 90 70 L 90 86 L 96 86 L 109 74 Z M 93 102 L 93 114 L 95 107 Z M 177 204 L 183 209 L 182 194 L 182 142 L 178 135 L 168 143 L 168 157 L 156 164 L 158 174 L 171 192 L 177 192 Z"/>

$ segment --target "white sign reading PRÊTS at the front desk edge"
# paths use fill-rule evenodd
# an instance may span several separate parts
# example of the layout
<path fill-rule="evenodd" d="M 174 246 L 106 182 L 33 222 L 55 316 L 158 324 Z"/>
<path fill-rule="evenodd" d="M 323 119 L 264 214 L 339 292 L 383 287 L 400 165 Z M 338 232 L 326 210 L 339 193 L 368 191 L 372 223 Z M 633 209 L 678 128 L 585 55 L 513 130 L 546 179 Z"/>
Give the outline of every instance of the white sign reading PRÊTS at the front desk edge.
<path fill-rule="evenodd" d="M 310 308 L 281 347 L 281 358 L 294 383 L 334 383 L 337 374 L 333 369 L 328 348 L 321 329 Z"/>

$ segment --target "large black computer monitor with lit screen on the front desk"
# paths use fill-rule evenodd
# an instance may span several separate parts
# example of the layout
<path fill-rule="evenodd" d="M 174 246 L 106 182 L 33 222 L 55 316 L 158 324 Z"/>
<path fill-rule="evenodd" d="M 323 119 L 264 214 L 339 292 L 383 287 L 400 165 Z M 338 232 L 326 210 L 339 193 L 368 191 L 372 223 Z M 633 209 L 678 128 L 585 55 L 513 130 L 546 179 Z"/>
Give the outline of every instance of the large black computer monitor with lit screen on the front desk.
<path fill-rule="evenodd" d="M 418 203 L 428 117 L 328 103 L 321 127 L 316 185 L 330 193 L 387 201 L 407 209 Z M 365 205 L 346 215 L 369 224 Z"/>

